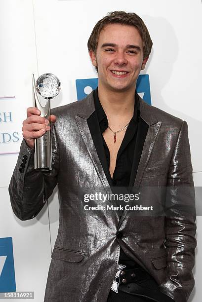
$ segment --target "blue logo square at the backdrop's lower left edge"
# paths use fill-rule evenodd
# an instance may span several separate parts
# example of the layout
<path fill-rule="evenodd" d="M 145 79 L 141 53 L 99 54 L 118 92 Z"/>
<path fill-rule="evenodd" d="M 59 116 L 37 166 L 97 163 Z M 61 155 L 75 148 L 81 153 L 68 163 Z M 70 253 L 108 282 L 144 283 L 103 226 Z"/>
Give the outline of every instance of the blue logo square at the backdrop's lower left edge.
<path fill-rule="evenodd" d="M 0 238 L 0 293 L 15 291 L 12 238 Z"/>

